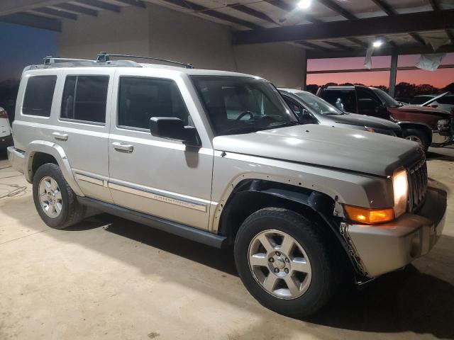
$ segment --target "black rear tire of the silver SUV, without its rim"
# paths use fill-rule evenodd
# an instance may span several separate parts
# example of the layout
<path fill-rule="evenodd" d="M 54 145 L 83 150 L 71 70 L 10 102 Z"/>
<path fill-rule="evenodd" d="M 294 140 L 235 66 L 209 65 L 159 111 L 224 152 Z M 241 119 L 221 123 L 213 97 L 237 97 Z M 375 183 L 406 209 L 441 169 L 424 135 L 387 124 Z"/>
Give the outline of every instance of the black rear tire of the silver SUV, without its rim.
<path fill-rule="evenodd" d="M 57 182 L 62 194 L 62 210 L 60 215 L 55 218 L 46 215 L 40 204 L 39 185 L 41 179 L 46 176 Z M 71 225 L 75 225 L 84 218 L 86 211 L 86 207 L 77 202 L 76 195 L 63 177 L 60 167 L 52 163 L 40 166 L 33 176 L 33 201 L 41 219 L 46 225 L 55 229 L 65 229 Z"/>

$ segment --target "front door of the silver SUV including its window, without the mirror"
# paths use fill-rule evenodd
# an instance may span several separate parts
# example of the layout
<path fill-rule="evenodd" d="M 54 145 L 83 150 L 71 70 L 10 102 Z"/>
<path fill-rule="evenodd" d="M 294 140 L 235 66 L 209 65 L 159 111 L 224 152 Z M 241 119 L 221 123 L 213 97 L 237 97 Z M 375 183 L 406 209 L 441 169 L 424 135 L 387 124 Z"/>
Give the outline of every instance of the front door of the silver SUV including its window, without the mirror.
<path fill-rule="evenodd" d="M 109 140 L 114 203 L 207 229 L 214 150 L 208 145 L 187 147 L 150 133 L 151 117 L 177 117 L 204 132 L 189 112 L 188 107 L 195 110 L 193 97 L 180 76 L 169 72 L 156 77 L 144 77 L 143 69 L 123 72 L 118 69 L 116 75 L 117 103 Z"/>

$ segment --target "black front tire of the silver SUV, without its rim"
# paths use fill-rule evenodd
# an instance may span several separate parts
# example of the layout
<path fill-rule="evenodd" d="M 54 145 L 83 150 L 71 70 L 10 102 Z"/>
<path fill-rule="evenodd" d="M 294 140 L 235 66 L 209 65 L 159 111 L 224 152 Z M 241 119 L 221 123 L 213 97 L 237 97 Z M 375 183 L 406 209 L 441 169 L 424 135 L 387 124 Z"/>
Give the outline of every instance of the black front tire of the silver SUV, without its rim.
<path fill-rule="evenodd" d="M 253 238 L 267 229 L 289 234 L 303 246 L 311 263 L 311 281 L 306 292 L 292 300 L 268 293 L 255 280 L 248 256 Z M 340 283 L 340 268 L 334 266 L 334 251 L 330 251 L 323 227 L 292 210 L 265 208 L 250 215 L 241 225 L 235 241 L 236 268 L 249 293 L 260 304 L 279 314 L 304 317 L 313 314 L 331 299 Z M 341 261 L 338 261 L 338 263 Z"/>

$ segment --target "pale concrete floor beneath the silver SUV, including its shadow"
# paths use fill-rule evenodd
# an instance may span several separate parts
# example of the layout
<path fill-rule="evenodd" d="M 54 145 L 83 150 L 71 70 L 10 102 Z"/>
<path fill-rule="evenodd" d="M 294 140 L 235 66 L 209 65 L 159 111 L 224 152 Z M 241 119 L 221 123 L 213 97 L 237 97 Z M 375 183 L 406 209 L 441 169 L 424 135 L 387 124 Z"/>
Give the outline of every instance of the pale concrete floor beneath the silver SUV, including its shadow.
<path fill-rule="evenodd" d="M 253 300 L 231 251 L 109 215 L 50 229 L 1 153 L 0 196 L 26 191 L 0 199 L 0 339 L 454 339 L 454 149 L 428 157 L 449 200 L 436 247 L 299 320 Z"/>

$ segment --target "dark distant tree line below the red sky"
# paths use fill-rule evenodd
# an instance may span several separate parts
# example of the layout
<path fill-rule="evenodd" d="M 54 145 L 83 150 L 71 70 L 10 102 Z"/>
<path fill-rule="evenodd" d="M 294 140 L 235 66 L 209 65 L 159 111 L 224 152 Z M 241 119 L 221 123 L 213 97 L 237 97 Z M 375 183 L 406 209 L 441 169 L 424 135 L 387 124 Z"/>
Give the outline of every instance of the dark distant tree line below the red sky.
<path fill-rule="evenodd" d="M 344 85 L 344 86 L 352 86 L 352 85 L 362 85 L 363 84 L 351 84 L 351 83 L 343 83 L 343 84 L 336 84 L 336 83 L 328 83 L 326 86 L 336 86 L 336 85 Z M 306 86 L 307 91 L 312 92 L 313 94 L 316 93 L 317 89 L 319 89 L 319 85 L 316 84 L 309 84 Z M 379 86 L 372 86 L 377 87 L 378 89 L 382 89 L 383 91 L 388 91 L 387 86 L 379 85 Z M 406 82 L 402 82 L 396 85 L 396 98 L 406 98 L 410 100 L 415 96 L 421 96 L 423 94 L 442 94 L 443 92 L 453 92 L 454 93 L 454 83 L 449 84 L 448 86 L 443 87 L 442 89 L 438 89 L 435 86 L 429 84 L 410 84 Z"/>

